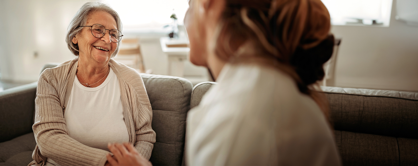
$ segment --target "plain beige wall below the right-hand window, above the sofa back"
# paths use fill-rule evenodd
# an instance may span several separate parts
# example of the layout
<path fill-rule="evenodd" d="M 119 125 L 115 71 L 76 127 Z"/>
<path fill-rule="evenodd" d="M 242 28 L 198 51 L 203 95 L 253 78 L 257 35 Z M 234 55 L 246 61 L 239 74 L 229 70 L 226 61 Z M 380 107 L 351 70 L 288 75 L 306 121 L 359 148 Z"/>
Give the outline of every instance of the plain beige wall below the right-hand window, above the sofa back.
<path fill-rule="evenodd" d="M 336 86 L 418 92 L 418 26 L 395 20 L 389 27 L 332 26 L 342 38 Z"/>

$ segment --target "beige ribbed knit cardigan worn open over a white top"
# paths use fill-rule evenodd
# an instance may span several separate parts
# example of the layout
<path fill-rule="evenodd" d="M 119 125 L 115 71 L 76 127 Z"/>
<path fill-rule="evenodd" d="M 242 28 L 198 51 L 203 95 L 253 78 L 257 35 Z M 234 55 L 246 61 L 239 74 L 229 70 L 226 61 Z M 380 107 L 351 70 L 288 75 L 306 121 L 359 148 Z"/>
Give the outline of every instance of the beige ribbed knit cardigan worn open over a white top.
<path fill-rule="evenodd" d="M 33 124 L 37 145 L 32 154 L 34 161 L 29 165 L 43 166 L 47 157 L 60 165 L 103 166 L 107 161 L 105 155 L 110 152 L 86 146 L 68 135 L 64 113 L 77 62 L 78 58 L 46 69 L 38 80 Z M 151 128 L 153 114 L 142 77 L 134 69 L 112 59 L 109 66 L 119 80 L 129 142 L 149 159 L 155 143 L 155 132 Z"/>

